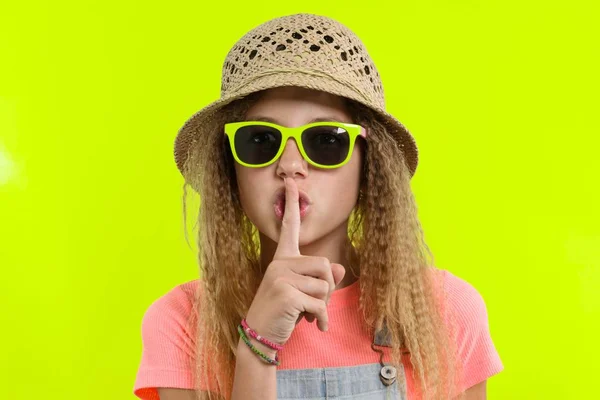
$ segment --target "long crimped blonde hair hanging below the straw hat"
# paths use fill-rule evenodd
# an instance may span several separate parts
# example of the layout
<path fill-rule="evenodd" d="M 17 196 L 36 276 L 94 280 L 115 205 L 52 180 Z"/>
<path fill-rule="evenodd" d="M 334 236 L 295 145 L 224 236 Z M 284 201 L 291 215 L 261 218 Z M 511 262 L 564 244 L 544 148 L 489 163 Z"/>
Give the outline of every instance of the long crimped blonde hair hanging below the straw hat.
<path fill-rule="evenodd" d="M 214 113 L 190 150 L 184 176 L 200 196 L 197 217 L 200 284 L 194 301 L 194 366 L 197 399 L 229 399 L 233 387 L 236 330 L 260 284 L 258 231 L 242 210 L 234 161 L 223 125 L 243 121 L 260 94 L 230 103 Z M 410 172 L 401 148 L 369 108 L 348 100 L 354 122 L 369 129 L 361 191 L 349 216 L 351 256 L 360 265 L 360 309 L 375 332 L 384 324 L 392 362 L 413 366 L 415 389 L 424 399 L 456 393 L 457 363 L 452 329 L 444 321 L 442 274 L 424 241 Z M 190 178 L 191 177 L 191 178 Z M 187 229 L 186 229 L 187 232 Z M 406 357 L 408 354 L 408 357 Z M 201 390 L 210 383 L 211 390 Z M 217 394 L 220 393 L 220 394 Z"/>

